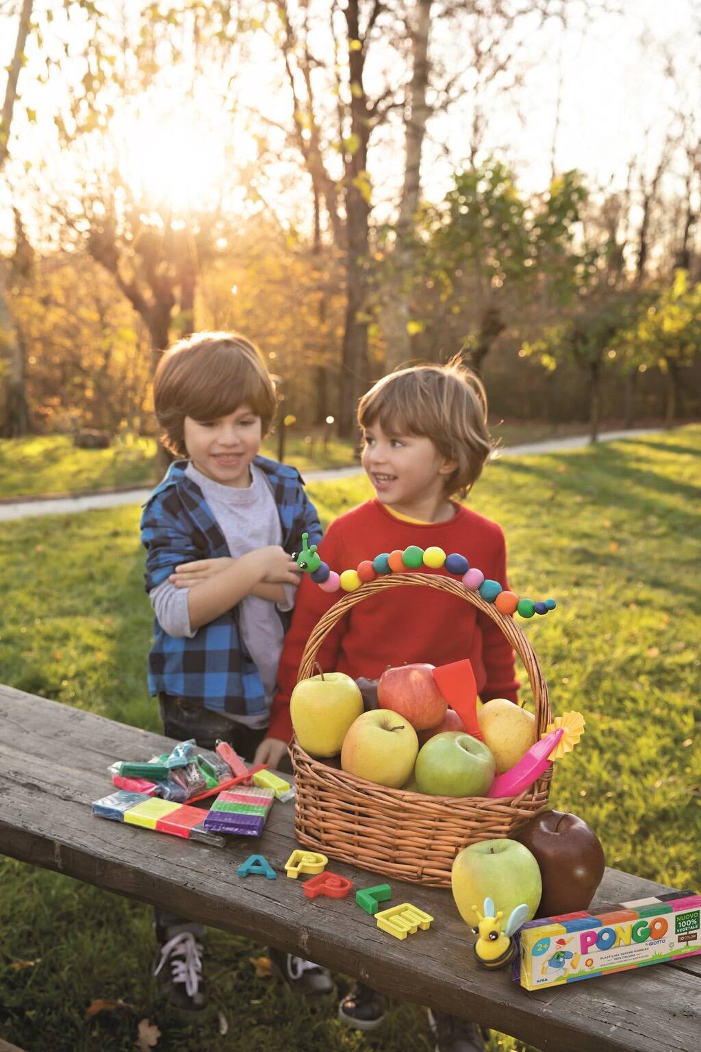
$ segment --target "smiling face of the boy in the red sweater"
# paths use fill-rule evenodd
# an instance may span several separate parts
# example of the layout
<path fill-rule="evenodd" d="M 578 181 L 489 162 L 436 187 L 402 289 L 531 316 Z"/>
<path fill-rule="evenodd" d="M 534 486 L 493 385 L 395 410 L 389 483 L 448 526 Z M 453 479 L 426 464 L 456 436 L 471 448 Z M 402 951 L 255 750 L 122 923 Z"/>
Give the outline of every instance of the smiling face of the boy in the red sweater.
<path fill-rule="evenodd" d="M 427 500 L 439 500 L 444 494 L 446 477 L 455 465 L 446 460 L 431 439 L 387 434 L 375 422 L 365 428 L 364 440 L 363 467 L 383 504 L 418 509 Z"/>

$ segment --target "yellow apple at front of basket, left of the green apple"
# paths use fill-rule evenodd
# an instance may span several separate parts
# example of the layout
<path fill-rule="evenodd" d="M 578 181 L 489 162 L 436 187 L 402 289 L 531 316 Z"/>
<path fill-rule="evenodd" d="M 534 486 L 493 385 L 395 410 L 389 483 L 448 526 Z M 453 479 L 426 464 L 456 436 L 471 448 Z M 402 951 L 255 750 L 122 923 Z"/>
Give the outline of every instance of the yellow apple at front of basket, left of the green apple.
<path fill-rule="evenodd" d="M 388 709 L 363 712 L 344 739 L 341 766 L 349 774 L 399 789 L 414 769 L 416 731 L 405 716 Z"/>

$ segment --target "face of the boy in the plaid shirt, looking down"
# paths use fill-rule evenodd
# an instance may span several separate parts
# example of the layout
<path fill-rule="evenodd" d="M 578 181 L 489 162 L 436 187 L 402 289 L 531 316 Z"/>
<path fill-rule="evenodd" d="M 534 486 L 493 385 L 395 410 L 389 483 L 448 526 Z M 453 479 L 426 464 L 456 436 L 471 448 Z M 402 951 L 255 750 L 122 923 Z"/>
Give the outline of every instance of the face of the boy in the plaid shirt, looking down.
<path fill-rule="evenodd" d="M 185 418 L 185 446 L 198 471 L 223 486 L 250 484 L 248 465 L 263 439 L 261 418 L 247 405 L 219 420 Z"/>

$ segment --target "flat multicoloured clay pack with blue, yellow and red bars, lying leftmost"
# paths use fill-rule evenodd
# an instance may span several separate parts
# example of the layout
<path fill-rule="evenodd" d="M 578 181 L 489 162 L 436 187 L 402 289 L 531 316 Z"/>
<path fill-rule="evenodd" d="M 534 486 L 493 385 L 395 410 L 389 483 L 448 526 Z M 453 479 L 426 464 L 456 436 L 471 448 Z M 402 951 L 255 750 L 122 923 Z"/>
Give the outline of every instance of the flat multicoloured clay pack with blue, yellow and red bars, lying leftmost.
<path fill-rule="evenodd" d="M 92 804 L 92 814 L 97 814 L 100 818 L 111 818 L 128 826 L 154 829 L 157 833 L 170 833 L 171 836 L 182 836 L 185 839 L 202 841 L 204 844 L 223 847 L 224 837 L 204 828 L 207 813 L 199 807 L 176 804 L 172 801 L 148 796 L 146 793 L 128 792 L 125 789 L 103 796 L 102 800 L 96 800 Z"/>

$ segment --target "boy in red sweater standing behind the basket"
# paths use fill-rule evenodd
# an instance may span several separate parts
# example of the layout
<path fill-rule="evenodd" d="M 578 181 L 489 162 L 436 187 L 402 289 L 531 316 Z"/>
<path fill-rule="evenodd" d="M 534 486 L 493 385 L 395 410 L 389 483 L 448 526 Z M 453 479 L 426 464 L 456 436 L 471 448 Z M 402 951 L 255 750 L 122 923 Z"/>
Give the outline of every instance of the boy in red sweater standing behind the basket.
<path fill-rule="evenodd" d="M 471 566 L 506 589 L 501 529 L 452 498 L 466 497 L 490 450 L 484 389 L 457 363 L 401 369 L 378 381 L 358 406 L 363 467 L 375 499 L 333 522 L 318 546 L 332 570 L 355 568 L 380 552 L 436 546 L 466 555 Z M 440 572 L 422 567 L 422 572 Z M 420 587 L 420 586 L 419 586 Z M 303 578 L 277 672 L 268 736 L 255 763 L 275 767 L 292 734 L 289 701 L 307 639 L 336 602 Z M 388 664 L 447 665 L 469 658 L 482 702 L 517 701 L 514 652 L 497 626 L 470 603 L 434 589 L 397 588 L 358 603 L 319 649 L 322 668 L 376 680 Z M 379 1026 L 383 998 L 364 984 L 344 998 L 341 1018 L 358 1029 Z M 430 1013 L 439 1052 L 483 1049 L 472 1024 Z"/>

